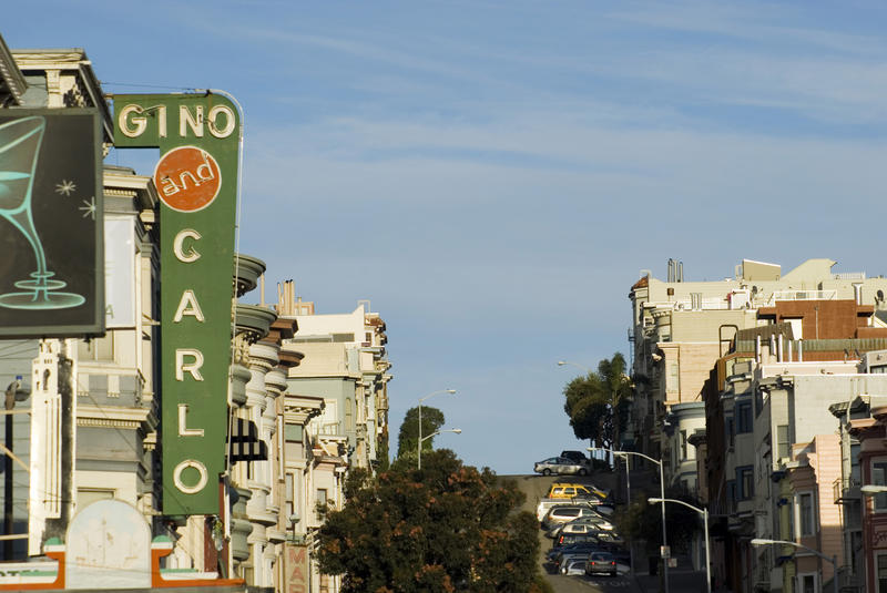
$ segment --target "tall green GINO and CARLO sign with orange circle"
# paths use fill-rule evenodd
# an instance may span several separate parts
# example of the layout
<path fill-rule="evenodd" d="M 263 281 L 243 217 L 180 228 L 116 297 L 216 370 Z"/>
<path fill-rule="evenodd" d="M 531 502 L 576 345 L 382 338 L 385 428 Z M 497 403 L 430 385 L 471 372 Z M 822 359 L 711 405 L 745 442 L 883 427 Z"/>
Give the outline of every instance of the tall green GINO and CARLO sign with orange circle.
<path fill-rule="evenodd" d="M 225 471 L 237 109 L 218 94 L 114 96 L 114 143 L 160 147 L 164 514 L 218 512 Z"/>

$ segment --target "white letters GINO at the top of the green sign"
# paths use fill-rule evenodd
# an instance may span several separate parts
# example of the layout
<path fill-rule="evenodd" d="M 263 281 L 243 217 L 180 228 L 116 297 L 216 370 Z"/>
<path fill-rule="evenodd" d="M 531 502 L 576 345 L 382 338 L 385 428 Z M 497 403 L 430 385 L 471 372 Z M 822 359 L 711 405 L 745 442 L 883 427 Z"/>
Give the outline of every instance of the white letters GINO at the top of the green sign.
<path fill-rule="evenodd" d="M 150 108 L 124 105 L 118 114 L 120 132 L 126 137 L 139 137 L 147 131 L 147 120 L 151 116 L 157 122 L 157 135 L 167 137 L 167 106 L 163 104 Z M 196 137 L 203 137 L 207 129 L 217 139 L 228 137 L 236 125 L 234 111 L 227 105 L 213 105 L 210 111 L 204 105 L 194 105 L 193 110 L 187 105 L 179 105 L 179 135 L 182 137 L 188 135 L 188 130 Z"/>

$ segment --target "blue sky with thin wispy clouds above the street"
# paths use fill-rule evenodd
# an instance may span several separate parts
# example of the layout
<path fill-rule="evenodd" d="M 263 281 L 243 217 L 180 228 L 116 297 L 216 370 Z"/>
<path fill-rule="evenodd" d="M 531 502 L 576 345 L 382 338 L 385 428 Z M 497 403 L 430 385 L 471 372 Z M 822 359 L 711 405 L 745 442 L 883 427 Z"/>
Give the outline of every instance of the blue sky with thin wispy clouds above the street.
<path fill-rule="evenodd" d="M 83 48 L 108 93 L 237 98 L 266 299 L 370 300 L 391 449 L 456 389 L 435 444 L 512 474 L 585 447 L 562 390 L 630 356 L 644 270 L 885 274 L 885 25 L 854 0 L 30 0 L 0 34 Z M 131 152 L 105 162 L 150 174 Z"/>

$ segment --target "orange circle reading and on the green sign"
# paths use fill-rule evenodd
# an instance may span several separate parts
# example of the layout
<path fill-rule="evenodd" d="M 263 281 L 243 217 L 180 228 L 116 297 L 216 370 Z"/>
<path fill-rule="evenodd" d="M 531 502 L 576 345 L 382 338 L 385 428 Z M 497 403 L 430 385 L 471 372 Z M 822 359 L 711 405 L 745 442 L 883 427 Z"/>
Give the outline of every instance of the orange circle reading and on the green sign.
<path fill-rule="evenodd" d="M 161 156 L 154 168 L 161 200 L 179 212 L 196 212 L 212 204 L 222 187 L 213 155 L 196 146 L 180 146 Z"/>

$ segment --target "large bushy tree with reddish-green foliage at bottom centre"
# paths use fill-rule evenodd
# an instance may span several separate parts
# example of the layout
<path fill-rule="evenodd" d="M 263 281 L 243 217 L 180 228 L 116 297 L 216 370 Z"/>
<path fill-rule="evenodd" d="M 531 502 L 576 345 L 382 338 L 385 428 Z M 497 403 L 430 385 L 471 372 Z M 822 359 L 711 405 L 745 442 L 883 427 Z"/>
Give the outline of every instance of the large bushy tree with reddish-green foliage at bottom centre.
<path fill-rule="evenodd" d="M 376 478 L 351 471 L 345 494 L 317 549 L 320 570 L 343 575 L 343 593 L 548 591 L 536 518 L 518 511 L 523 494 L 452 451 L 424 453 L 421 471 L 406 459 Z"/>

